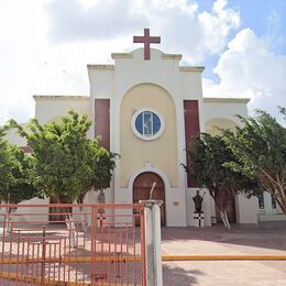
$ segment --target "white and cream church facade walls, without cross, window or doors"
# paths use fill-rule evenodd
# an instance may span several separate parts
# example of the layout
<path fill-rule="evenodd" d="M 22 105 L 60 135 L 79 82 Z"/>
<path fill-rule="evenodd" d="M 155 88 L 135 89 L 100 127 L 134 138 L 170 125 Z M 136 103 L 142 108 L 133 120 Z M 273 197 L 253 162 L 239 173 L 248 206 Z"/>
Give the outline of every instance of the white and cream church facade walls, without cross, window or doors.
<path fill-rule="evenodd" d="M 197 189 L 187 187 L 186 173 L 180 166 L 186 163 L 184 100 L 197 100 L 200 132 L 210 133 L 216 133 L 213 125 L 234 128 L 239 124 L 234 114 L 246 116 L 249 100 L 205 98 L 204 67 L 179 66 L 182 55 L 164 54 L 158 50 L 151 50 L 151 61 L 144 61 L 143 53 L 143 48 L 139 48 L 112 54 L 114 65 L 88 65 L 90 96 L 34 96 L 35 118 L 46 123 L 58 120 L 70 109 L 87 113 L 92 122 L 88 135 L 94 138 L 95 100 L 110 100 L 110 150 L 122 157 L 117 162 L 107 202 L 133 202 L 135 179 L 143 173 L 153 173 L 164 183 L 166 226 L 195 226 L 193 197 Z M 156 110 L 164 118 L 164 131 L 150 142 L 132 132 L 132 114 L 142 108 Z M 24 146 L 14 134 L 9 134 L 9 140 Z M 215 204 L 207 190 L 200 191 L 201 195 L 206 191 L 205 226 L 211 226 L 211 217 L 216 217 Z M 89 202 L 97 202 L 96 194 L 87 196 Z M 239 223 L 256 223 L 257 200 L 238 197 L 235 212 Z M 268 205 L 264 212 L 258 212 L 260 219 L 263 215 L 273 215 Z"/>

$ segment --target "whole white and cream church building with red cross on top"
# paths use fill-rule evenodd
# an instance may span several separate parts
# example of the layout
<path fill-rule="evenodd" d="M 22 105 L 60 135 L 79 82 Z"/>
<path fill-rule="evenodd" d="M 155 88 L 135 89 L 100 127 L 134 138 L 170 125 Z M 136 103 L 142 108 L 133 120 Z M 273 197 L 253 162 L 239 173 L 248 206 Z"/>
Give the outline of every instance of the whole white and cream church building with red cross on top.
<path fill-rule="evenodd" d="M 248 114 L 248 99 L 208 98 L 202 96 L 202 66 L 180 65 L 180 54 L 165 54 L 151 48 L 160 37 L 134 36 L 142 43 L 130 53 L 111 54 L 113 65 L 90 64 L 89 96 L 34 96 L 35 118 L 41 123 L 53 122 L 74 109 L 87 113 L 92 122 L 88 136 L 100 135 L 100 144 L 120 154 L 110 188 L 108 204 L 132 204 L 150 198 L 164 201 L 162 226 L 197 226 L 193 197 L 198 188 L 187 180 L 182 163 L 186 163 L 186 146 L 199 132 L 216 133 L 216 128 L 234 129 L 234 114 Z M 13 134 L 8 138 L 24 147 L 25 142 Z M 207 190 L 202 211 L 205 226 L 216 221 L 216 207 Z M 33 199 L 34 204 L 50 202 Z M 97 202 L 90 191 L 86 201 Z M 237 196 L 229 201 L 230 221 L 256 223 L 256 198 Z"/>

